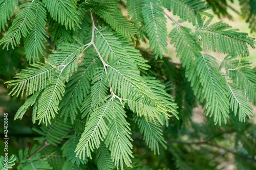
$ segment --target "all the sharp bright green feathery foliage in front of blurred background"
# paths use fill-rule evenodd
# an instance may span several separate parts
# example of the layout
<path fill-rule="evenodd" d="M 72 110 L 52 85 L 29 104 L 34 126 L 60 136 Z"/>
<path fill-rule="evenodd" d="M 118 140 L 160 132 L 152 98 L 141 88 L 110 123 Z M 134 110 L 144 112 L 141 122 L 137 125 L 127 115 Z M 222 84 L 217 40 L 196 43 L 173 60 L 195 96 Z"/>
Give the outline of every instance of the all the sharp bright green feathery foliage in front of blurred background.
<path fill-rule="evenodd" d="M 20 169 L 36 163 L 38 169 L 84 169 L 88 158 L 94 158 L 99 169 L 132 168 L 132 127 L 155 154 L 160 144 L 167 148 L 161 127 L 168 126 L 172 114 L 178 118 L 177 105 L 165 85 L 147 74 L 150 65 L 133 46 L 134 40 L 148 39 L 155 59 L 162 59 L 163 51 L 167 53 L 167 18 L 174 22 L 170 44 L 194 94 L 205 101 L 206 114 L 220 125 L 230 110 L 240 120 L 252 115 L 249 102 L 255 104 L 256 76 L 246 61 L 234 58 L 248 56 L 247 46 L 254 47 L 254 39 L 224 22 L 211 23 L 206 3 L 127 0 L 127 19 L 116 1 L 33 0 L 20 6 L 0 1 L 0 14 L 8 11 L 0 20 L 3 30 L 15 7 L 16 17 L 0 44 L 14 48 L 25 38 L 32 64 L 7 82 L 13 87 L 11 95 L 28 97 L 14 119 L 33 107 L 33 123 L 44 124 L 34 129 L 42 135 L 37 139 L 54 145 L 50 154 L 32 149 L 35 154 L 29 159 L 27 149 L 20 152 Z M 183 27 L 164 8 L 193 23 L 194 29 Z M 47 43 L 54 51 L 36 62 L 42 61 Z M 206 50 L 227 57 L 221 60 Z"/>

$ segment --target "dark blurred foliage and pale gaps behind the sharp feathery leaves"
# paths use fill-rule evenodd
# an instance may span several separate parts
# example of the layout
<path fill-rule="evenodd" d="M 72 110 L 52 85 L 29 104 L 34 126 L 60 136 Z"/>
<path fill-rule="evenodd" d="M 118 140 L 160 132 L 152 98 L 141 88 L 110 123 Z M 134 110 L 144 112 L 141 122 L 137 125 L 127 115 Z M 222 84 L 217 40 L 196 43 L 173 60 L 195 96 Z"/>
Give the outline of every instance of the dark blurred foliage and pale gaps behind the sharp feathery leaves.
<path fill-rule="evenodd" d="M 215 13 L 213 22 L 223 20 L 233 28 L 256 37 L 256 0 L 206 0 L 212 6 L 211 13 Z M 123 8 L 124 2 L 120 2 Z M 125 15 L 125 11 L 123 11 Z M 13 18 L 12 18 L 13 19 Z M 12 19 L 9 21 L 11 22 Z M 175 19 L 179 19 L 178 17 Z M 184 23 L 185 25 L 186 23 Z M 172 29 L 170 21 L 167 23 L 168 32 Z M 189 24 L 186 25 L 189 27 Z M 0 35 L 2 38 L 3 35 Z M 169 40 L 168 40 L 169 41 Z M 48 39 L 45 56 L 54 50 L 51 39 Z M 23 43 L 22 43 L 23 44 Z M 148 51 L 149 45 L 140 42 L 138 48 L 143 57 L 152 66 L 148 74 L 156 76 L 167 87 L 168 92 L 175 97 L 179 105 L 180 120 L 170 118 L 169 126 L 163 128 L 167 141 L 167 150 L 160 148 L 160 155 L 148 149 L 138 131 L 132 132 L 134 139 L 134 154 L 144 167 L 152 169 L 256 169 L 256 118 L 247 119 L 245 123 L 238 120 L 238 116 L 231 114 L 226 125 L 215 126 L 212 118 L 205 117 L 204 103 L 199 103 L 184 74 L 184 68 L 172 45 L 168 45 L 168 53 L 163 60 L 154 61 L 153 53 Z M 250 49 L 250 57 L 246 60 L 256 67 L 256 50 Z M 221 54 L 209 52 L 219 55 Z M 32 148 L 34 144 L 44 144 L 44 141 L 34 140 L 40 136 L 32 130 L 38 125 L 32 124 L 32 110 L 29 110 L 22 120 L 13 120 L 18 108 L 26 101 L 25 97 L 9 96 L 4 82 L 12 80 L 20 69 L 29 64 L 26 61 L 23 45 L 9 51 L 0 48 L 0 124 L 3 125 L 3 114 L 8 113 L 8 153 L 17 154 L 19 149 Z M 253 107 L 255 115 L 256 109 Z M 0 127 L 0 155 L 4 154 L 3 126 Z M 50 148 L 46 151 L 49 152 Z M 136 160 L 135 160 L 136 161 Z M 93 163 L 92 163 L 93 164 Z M 92 165 L 92 167 L 95 167 Z"/>

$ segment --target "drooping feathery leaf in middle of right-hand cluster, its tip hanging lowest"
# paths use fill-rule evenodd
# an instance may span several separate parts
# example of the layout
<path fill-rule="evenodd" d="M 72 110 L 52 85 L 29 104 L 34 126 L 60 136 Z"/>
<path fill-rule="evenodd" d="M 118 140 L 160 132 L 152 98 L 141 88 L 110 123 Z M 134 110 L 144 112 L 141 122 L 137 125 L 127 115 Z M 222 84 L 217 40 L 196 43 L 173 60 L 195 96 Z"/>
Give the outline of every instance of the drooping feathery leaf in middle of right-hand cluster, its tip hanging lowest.
<path fill-rule="evenodd" d="M 227 89 L 215 58 L 201 55 L 197 59 L 197 72 L 206 98 L 206 115 L 214 115 L 215 123 L 226 123 L 229 103 Z"/>

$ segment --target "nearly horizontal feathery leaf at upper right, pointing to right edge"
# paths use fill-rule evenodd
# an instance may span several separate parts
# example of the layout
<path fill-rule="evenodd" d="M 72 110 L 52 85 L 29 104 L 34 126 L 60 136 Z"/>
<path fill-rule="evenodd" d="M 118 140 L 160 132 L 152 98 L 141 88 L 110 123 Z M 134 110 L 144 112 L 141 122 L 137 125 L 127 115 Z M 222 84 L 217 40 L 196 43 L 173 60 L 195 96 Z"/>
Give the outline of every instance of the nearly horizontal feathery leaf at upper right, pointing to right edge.
<path fill-rule="evenodd" d="M 254 38 L 247 37 L 247 33 L 239 33 L 237 29 L 230 29 L 227 23 L 222 21 L 209 25 L 209 19 L 205 25 L 196 30 L 199 44 L 204 50 L 231 54 L 232 56 L 249 56 L 247 44 L 254 48 Z"/>

